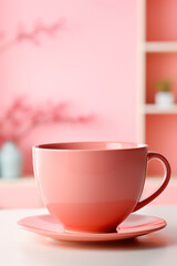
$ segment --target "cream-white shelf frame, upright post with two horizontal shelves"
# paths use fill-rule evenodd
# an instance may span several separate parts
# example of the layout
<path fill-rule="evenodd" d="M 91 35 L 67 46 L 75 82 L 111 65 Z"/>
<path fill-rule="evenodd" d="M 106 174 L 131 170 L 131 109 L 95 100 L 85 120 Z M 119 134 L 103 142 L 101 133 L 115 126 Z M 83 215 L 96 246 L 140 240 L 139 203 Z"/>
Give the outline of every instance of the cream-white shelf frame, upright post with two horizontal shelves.
<path fill-rule="evenodd" d="M 146 54 L 177 52 L 175 41 L 146 41 L 146 1 L 137 0 L 137 142 L 145 143 L 147 114 L 177 114 L 177 104 L 160 108 L 146 103 Z"/>

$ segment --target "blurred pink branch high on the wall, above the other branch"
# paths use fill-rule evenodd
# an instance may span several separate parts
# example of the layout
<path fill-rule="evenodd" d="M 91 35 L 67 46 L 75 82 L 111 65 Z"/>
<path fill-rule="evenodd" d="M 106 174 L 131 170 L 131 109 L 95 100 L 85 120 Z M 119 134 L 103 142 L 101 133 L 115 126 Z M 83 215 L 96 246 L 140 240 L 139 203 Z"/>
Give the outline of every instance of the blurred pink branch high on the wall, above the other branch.
<path fill-rule="evenodd" d="M 60 19 L 53 22 L 50 25 L 44 24 L 43 22 L 35 23 L 34 28 L 31 31 L 27 31 L 23 27 L 20 27 L 17 34 L 9 41 L 0 45 L 0 53 L 6 52 L 11 49 L 13 45 L 21 43 L 22 41 L 29 41 L 35 45 L 40 44 L 42 35 L 54 37 L 54 34 L 62 30 L 64 25 L 64 19 Z M 0 39 L 4 39 L 4 33 L 0 32 Z"/>

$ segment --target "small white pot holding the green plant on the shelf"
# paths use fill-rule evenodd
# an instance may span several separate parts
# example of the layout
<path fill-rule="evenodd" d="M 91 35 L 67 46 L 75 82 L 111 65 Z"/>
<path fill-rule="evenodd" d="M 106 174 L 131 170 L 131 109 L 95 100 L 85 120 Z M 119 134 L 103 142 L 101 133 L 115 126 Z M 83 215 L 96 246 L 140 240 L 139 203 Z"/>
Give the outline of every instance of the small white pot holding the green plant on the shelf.
<path fill-rule="evenodd" d="M 169 108 L 175 103 L 174 94 L 169 91 L 159 91 L 155 94 L 155 103 L 162 108 Z"/>

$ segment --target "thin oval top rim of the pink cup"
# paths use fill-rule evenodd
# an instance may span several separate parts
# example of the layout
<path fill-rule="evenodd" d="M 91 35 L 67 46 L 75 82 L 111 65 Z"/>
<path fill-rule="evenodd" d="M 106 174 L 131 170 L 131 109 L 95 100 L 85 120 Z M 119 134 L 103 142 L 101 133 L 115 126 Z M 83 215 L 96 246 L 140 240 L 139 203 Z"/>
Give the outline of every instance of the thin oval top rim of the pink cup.
<path fill-rule="evenodd" d="M 124 145 L 124 147 L 117 146 L 117 147 L 106 147 L 106 149 L 56 149 L 52 147 L 54 145 L 81 145 L 81 144 L 113 144 L 113 145 Z M 128 146 L 129 145 L 129 146 Z M 148 149 L 148 145 L 145 143 L 135 143 L 135 142 L 117 142 L 117 141 L 93 141 L 93 142 L 55 142 L 55 143 L 43 143 L 33 145 L 33 150 L 43 150 L 43 151 L 53 151 L 53 152 L 102 152 L 102 151 L 127 151 L 127 150 L 142 150 L 142 149 Z"/>

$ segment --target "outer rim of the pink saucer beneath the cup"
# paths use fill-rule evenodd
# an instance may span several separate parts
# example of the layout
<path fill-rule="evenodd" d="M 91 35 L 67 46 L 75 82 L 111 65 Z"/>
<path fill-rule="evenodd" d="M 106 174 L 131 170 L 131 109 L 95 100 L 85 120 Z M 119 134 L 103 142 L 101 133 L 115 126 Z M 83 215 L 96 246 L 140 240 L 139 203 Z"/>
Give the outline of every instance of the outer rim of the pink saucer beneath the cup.
<path fill-rule="evenodd" d="M 34 228 L 34 226 L 30 226 L 24 224 L 30 218 L 39 218 L 39 217 L 46 217 L 51 216 L 51 214 L 42 214 L 42 215 L 32 215 L 24 218 L 21 218 L 18 221 L 18 226 L 24 231 L 35 233 L 41 236 L 45 236 L 49 238 L 52 238 L 54 241 L 59 242 L 72 242 L 72 243 L 94 243 L 94 242 L 112 242 L 112 241 L 122 241 L 122 239 L 131 239 L 135 237 L 139 237 L 143 235 L 150 234 L 153 232 L 163 229 L 166 227 L 167 222 L 160 217 L 153 216 L 153 215 L 144 215 L 144 214 L 131 214 L 129 216 L 146 216 L 156 218 L 155 222 L 147 223 L 147 228 L 139 228 L 140 225 L 134 226 L 133 228 L 137 228 L 137 231 L 127 231 L 124 228 L 124 232 L 112 232 L 112 233 L 86 233 L 86 232 L 67 232 L 67 231 L 61 231 L 61 232 L 52 232 L 43 228 Z M 143 224 L 142 224 L 143 225 Z M 121 225 L 119 225 L 121 227 Z M 131 226 L 127 228 L 131 228 Z"/>

